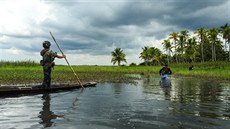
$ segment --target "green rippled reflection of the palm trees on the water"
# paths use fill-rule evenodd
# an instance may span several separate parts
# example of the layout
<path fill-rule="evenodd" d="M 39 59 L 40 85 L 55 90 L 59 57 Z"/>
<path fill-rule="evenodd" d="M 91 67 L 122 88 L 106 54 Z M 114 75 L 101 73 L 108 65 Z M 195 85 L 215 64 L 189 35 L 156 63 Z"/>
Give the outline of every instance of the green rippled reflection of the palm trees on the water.
<path fill-rule="evenodd" d="M 160 86 L 156 85 L 158 80 L 160 80 Z M 220 86 L 220 83 L 196 78 L 171 78 L 170 86 L 164 84 L 167 82 L 160 78 L 145 80 L 144 92 L 160 98 L 160 95 L 156 96 L 157 94 L 153 91 L 159 91 L 161 87 L 164 99 L 171 101 L 168 109 L 174 113 L 230 119 L 229 106 L 227 106 L 229 101 L 226 102 L 226 99 L 223 99 L 223 91 L 226 87 Z M 229 93 L 227 94 L 229 96 Z"/>

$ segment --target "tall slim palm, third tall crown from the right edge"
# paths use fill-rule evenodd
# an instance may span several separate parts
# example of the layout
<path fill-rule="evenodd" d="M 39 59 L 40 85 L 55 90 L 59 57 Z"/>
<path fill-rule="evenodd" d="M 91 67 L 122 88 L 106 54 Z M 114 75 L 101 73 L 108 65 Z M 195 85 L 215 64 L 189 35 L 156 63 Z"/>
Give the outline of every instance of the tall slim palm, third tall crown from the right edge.
<path fill-rule="evenodd" d="M 202 62 L 204 62 L 204 41 L 206 39 L 206 32 L 207 30 L 204 28 L 199 28 L 197 29 L 197 31 L 195 32 L 195 34 L 198 35 L 199 39 L 200 39 L 200 46 L 201 46 L 201 58 L 202 58 Z"/>

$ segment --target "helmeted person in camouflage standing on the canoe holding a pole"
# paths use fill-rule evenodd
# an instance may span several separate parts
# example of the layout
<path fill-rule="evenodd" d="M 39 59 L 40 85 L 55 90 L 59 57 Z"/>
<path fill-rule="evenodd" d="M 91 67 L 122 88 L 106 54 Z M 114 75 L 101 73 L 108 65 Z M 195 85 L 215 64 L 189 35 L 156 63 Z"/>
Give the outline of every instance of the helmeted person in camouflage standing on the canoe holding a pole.
<path fill-rule="evenodd" d="M 43 66 L 43 73 L 44 73 L 44 79 L 42 86 L 43 88 L 50 88 L 51 85 L 51 68 L 54 67 L 54 59 L 57 58 L 65 58 L 66 56 L 64 54 L 58 55 L 56 52 L 53 52 L 50 50 L 51 43 L 49 41 L 43 42 L 43 48 L 40 52 L 42 56 L 42 60 L 40 61 L 40 64 Z"/>

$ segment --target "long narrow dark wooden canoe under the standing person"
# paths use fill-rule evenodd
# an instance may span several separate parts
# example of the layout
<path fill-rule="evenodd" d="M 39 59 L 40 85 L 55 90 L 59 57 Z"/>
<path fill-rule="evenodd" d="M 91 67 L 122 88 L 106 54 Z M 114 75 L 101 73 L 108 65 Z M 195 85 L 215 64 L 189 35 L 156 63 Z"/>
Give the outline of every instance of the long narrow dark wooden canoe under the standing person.
<path fill-rule="evenodd" d="M 82 84 L 84 88 L 87 87 L 95 87 L 97 82 L 88 82 Z M 44 89 L 42 85 L 4 85 L 0 86 L 0 97 L 5 96 L 23 96 L 28 94 L 43 94 L 43 93 L 53 93 L 53 92 L 61 92 L 61 91 L 68 91 L 73 89 L 82 88 L 80 84 L 66 84 L 66 83 L 59 83 L 59 84 L 52 84 L 50 88 Z"/>

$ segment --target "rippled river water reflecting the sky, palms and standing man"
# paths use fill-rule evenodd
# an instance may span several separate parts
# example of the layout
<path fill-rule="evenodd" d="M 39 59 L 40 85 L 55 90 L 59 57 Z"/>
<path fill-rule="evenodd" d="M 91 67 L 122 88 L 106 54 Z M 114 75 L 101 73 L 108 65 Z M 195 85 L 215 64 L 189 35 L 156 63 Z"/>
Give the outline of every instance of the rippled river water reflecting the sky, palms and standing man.
<path fill-rule="evenodd" d="M 0 98 L 0 129 L 227 129 L 230 85 L 142 78 L 68 92 Z"/>

